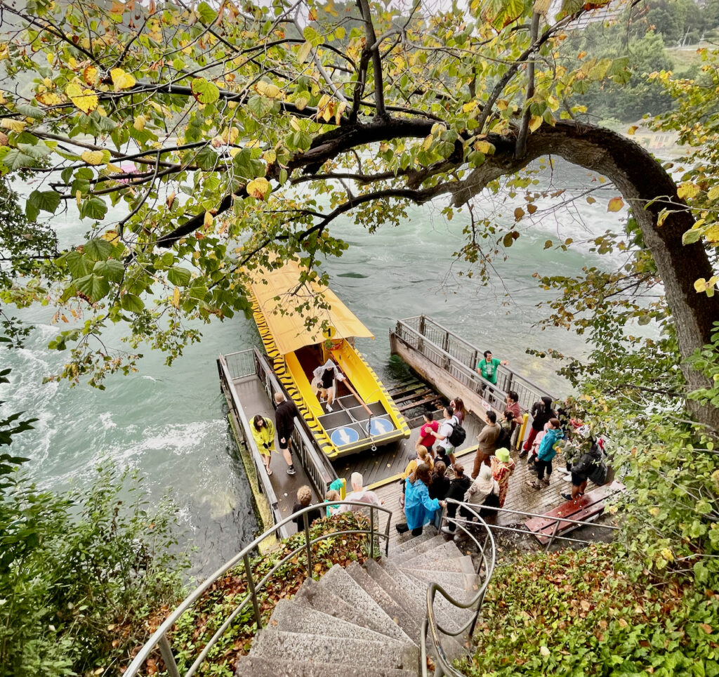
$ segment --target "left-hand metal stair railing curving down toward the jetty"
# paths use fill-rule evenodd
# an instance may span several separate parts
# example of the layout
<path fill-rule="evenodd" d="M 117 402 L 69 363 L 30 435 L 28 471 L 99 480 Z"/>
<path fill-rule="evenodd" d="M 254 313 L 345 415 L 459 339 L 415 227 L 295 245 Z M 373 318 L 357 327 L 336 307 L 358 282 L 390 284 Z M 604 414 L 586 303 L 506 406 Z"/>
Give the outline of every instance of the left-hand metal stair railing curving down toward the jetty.
<path fill-rule="evenodd" d="M 289 517 L 286 517 L 278 524 L 275 524 L 274 527 L 255 538 L 255 540 L 249 543 L 249 545 L 243 547 L 242 550 L 237 553 L 237 555 L 234 555 L 232 559 L 224 563 L 217 571 L 215 571 L 215 573 L 213 573 L 209 578 L 207 578 L 206 581 L 204 581 L 203 583 L 201 583 L 201 585 L 194 589 L 191 594 L 189 594 L 179 604 L 179 606 L 160 624 L 160 627 L 157 627 L 157 630 L 152 633 L 152 637 L 150 637 L 150 639 L 145 642 L 145 645 L 143 645 L 137 655 L 135 655 L 134 659 L 132 660 L 132 663 L 130 663 L 127 670 L 124 671 L 123 677 L 135 677 L 137 673 L 139 673 L 139 671 L 142 669 L 142 666 L 145 664 L 145 661 L 147 660 L 147 658 L 150 657 L 155 648 L 158 648 L 160 650 L 160 655 L 162 656 L 162 660 L 165 663 L 165 668 L 167 671 L 166 674 L 168 675 L 168 677 L 192 677 L 201 667 L 204 660 L 207 658 L 207 655 L 209 654 L 210 650 L 214 647 L 214 645 L 216 645 L 218 640 L 220 640 L 226 630 L 230 627 L 234 619 L 236 619 L 239 614 L 242 613 L 243 609 L 247 608 L 249 604 L 252 604 L 252 609 L 255 614 L 255 621 L 257 622 L 257 630 L 260 630 L 262 628 L 262 613 L 260 612 L 260 599 L 258 598 L 258 594 L 260 594 L 262 589 L 265 588 L 267 582 L 273 579 L 275 573 L 280 571 L 280 569 L 283 568 L 285 564 L 296 560 L 296 558 L 301 558 L 302 553 L 304 553 L 304 558 L 306 559 L 306 576 L 307 578 L 313 578 L 315 572 L 312 546 L 316 543 L 336 536 L 364 534 L 367 536 L 367 554 L 370 558 L 374 558 L 375 553 L 380 554 L 380 539 L 384 540 L 385 555 L 388 553 L 388 547 L 390 542 L 390 522 L 392 521 L 392 511 L 390 509 L 380 506 L 370 506 L 366 503 L 361 503 L 358 501 L 331 501 L 331 504 L 345 505 L 348 506 L 348 509 L 349 507 L 362 509 L 365 514 L 368 512 L 369 526 L 365 527 L 362 524 L 357 524 L 357 528 L 355 529 L 336 530 L 330 533 L 323 534 L 319 537 L 311 538 L 308 524 L 309 520 L 303 519 L 305 535 L 303 542 L 301 542 L 297 547 L 294 547 L 292 550 L 290 550 L 290 552 L 287 553 L 283 558 L 278 560 L 278 562 L 276 562 L 273 567 L 270 568 L 270 571 L 268 571 L 265 576 L 262 576 L 262 578 L 258 578 L 257 580 L 255 580 L 255 576 L 252 572 L 252 563 L 250 562 L 249 558 L 250 555 L 255 553 L 255 550 L 257 550 L 257 546 L 260 545 L 260 542 L 265 540 L 267 537 L 282 533 L 285 530 L 284 527 L 289 522 L 292 522 L 296 517 L 298 517 L 298 515 L 306 514 L 307 512 L 310 512 L 311 510 L 316 510 L 317 508 L 321 509 L 321 511 L 324 513 L 326 510 L 326 506 L 330 504 L 328 502 L 307 506 L 306 508 L 303 508 L 302 510 L 299 510 L 298 512 L 290 515 Z M 385 524 L 383 524 L 384 517 L 386 517 Z M 190 668 L 188 668 L 187 671 L 180 675 L 178 664 L 175 661 L 175 652 L 173 651 L 172 645 L 170 645 L 170 637 L 172 636 L 173 626 L 175 625 L 175 623 L 178 622 L 178 620 L 180 619 L 180 617 L 183 616 L 183 614 L 193 608 L 197 601 L 201 599 L 203 594 L 221 576 L 224 576 L 227 571 L 241 564 L 243 565 L 244 576 L 247 580 L 247 593 L 244 594 L 241 599 L 238 599 L 237 605 L 234 606 L 232 610 L 226 609 L 226 618 L 224 618 L 224 621 L 220 625 L 219 629 L 199 652 L 197 658 L 194 660 Z"/>

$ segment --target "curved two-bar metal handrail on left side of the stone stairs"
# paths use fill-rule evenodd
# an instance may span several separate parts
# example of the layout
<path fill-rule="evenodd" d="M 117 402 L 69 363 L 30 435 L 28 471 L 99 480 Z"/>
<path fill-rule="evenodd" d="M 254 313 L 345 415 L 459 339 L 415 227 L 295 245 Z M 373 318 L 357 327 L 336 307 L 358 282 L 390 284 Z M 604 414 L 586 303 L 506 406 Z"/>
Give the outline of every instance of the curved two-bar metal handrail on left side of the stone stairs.
<path fill-rule="evenodd" d="M 332 505 L 347 505 L 347 506 L 355 506 L 358 509 L 369 509 L 370 510 L 370 528 L 369 529 L 354 529 L 354 530 L 339 530 L 335 532 L 331 532 L 329 534 L 323 534 L 319 537 L 310 539 L 309 535 L 309 524 L 307 519 L 303 519 L 304 523 L 304 532 L 305 532 L 305 540 L 304 542 L 296 547 L 294 550 L 292 550 L 290 553 L 285 555 L 278 563 L 275 563 L 275 566 L 267 573 L 260 581 L 255 581 L 254 578 L 252 578 L 252 568 L 249 562 L 249 554 L 252 553 L 255 548 L 260 545 L 260 542 L 265 540 L 265 538 L 275 534 L 276 532 L 279 532 L 280 529 L 282 529 L 285 524 L 288 524 L 288 522 L 293 521 L 298 515 L 306 514 L 307 512 L 310 512 L 311 510 L 316 509 L 325 509 L 326 507 Z M 375 510 L 379 510 L 381 512 L 384 512 L 388 515 L 387 523 L 385 524 L 384 532 L 380 532 L 380 530 L 375 529 Z M 323 512 L 325 512 L 323 511 Z M 355 511 L 357 512 L 357 511 Z M 244 609 L 245 606 L 247 606 L 249 601 L 252 601 L 252 606 L 255 611 L 255 620 L 257 621 L 257 629 L 260 630 L 262 628 L 262 614 L 260 613 L 260 606 L 257 603 L 257 592 L 262 589 L 263 586 L 265 586 L 265 583 L 270 580 L 271 576 L 275 571 L 278 571 L 283 565 L 288 563 L 288 561 L 293 558 L 297 553 L 299 553 L 303 548 L 306 550 L 307 553 L 307 576 L 308 578 L 312 578 L 313 573 L 313 566 L 312 566 L 312 545 L 315 543 L 318 543 L 322 540 L 325 540 L 330 537 L 344 535 L 344 534 L 367 534 L 370 536 L 370 558 L 375 557 L 375 537 L 377 538 L 383 538 L 385 540 L 385 555 L 389 551 L 389 543 L 390 543 L 390 523 L 392 521 L 392 514 L 393 512 L 385 507 L 382 506 L 375 506 L 370 505 L 367 503 L 362 503 L 360 501 L 326 501 L 324 503 L 318 503 L 314 505 L 309 505 L 306 508 L 303 508 L 301 510 L 298 510 L 297 512 L 289 515 L 288 517 L 285 517 L 285 519 L 282 520 L 282 522 L 279 522 L 278 524 L 275 524 L 274 527 L 271 529 L 268 529 L 264 533 L 262 533 L 260 536 L 255 538 L 249 545 L 246 545 L 242 550 L 237 553 L 237 555 L 234 555 L 233 558 L 228 560 L 226 563 L 224 563 L 217 571 L 215 571 L 209 578 L 207 578 L 201 585 L 199 585 L 196 589 L 194 589 L 191 594 L 189 594 L 185 599 L 183 599 L 182 602 L 180 602 L 180 605 L 175 609 L 175 611 L 170 614 L 163 622 L 160 624 L 159 627 L 157 627 L 157 630 L 152 633 L 152 637 L 150 637 L 147 642 L 145 642 L 144 645 L 142 645 L 142 648 L 139 650 L 137 655 L 132 660 L 132 663 L 128 666 L 127 670 L 124 671 L 122 677 L 135 677 L 137 673 L 139 672 L 140 668 L 142 668 L 142 665 L 145 663 L 145 660 L 149 658 L 150 653 L 155 649 L 155 647 L 160 649 L 160 653 L 162 655 L 162 660 L 165 661 L 165 666 L 168 668 L 168 676 L 169 677 L 180 677 L 180 671 L 178 670 L 177 663 L 175 662 L 175 658 L 172 652 L 172 648 L 170 646 L 170 642 L 167 637 L 167 633 L 175 622 L 188 610 L 195 604 L 198 599 L 201 598 L 201 596 L 209 589 L 209 587 L 218 579 L 220 576 L 223 576 L 224 573 L 229 571 L 229 569 L 236 566 L 240 560 L 244 563 L 244 571 L 245 576 L 247 576 L 247 586 L 249 587 L 249 594 L 244 596 L 244 599 L 240 602 L 239 606 L 237 606 L 234 611 L 229 615 L 229 617 L 225 620 L 225 622 L 221 625 L 219 630 L 211 637 L 209 642 L 205 645 L 203 650 L 201 651 L 200 655 L 198 655 L 198 658 L 194 661 L 194 663 L 191 665 L 191 667 L 188 669 L 188 671 L 185 673 L 184 677 L 191 677 L 197 669 L 202 664 L 203 660 L 206 658 L 206 655 L 209 653 L 209 650 L 215 645 L 217 640 L 224 634 L 224 632 L 227 630 L 229 625 L 232 623 L 234 618 L 237 617 L 239 612 Z"/>

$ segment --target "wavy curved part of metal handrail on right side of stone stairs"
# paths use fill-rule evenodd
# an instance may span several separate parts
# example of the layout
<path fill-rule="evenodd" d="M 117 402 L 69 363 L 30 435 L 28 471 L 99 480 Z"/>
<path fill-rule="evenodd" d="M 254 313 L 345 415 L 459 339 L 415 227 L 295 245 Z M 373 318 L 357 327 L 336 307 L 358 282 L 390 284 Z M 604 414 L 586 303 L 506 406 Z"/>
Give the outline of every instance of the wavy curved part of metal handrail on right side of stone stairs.
<path fill-rule="evenodd" d="M 462 501 L 456 501 L 454 499 L 446 500 L 450 503 L 462 506 L 464 510 L 470 512 L 474 517 L 477 518 L 479 526 L 482 527 L 485 531 L 485 542 L 480 545 L 480 542 L 475 538 L 472 532 L 470 532 L 470 530 L 468 530 L 467 527 L 464 526 L 461 521 L 456 520 L 452 517 L 445 517 L 448 522 L 452 522 L 457 527 L 462 529 L 464 533 L 475 542 L 475 545 L 477 545 L 477 548 L 480 550 L 480 556 L 482 558 L 482 563 L 480 564 L 480 568 L 477 571 L 477 574 L 479 575 L 483 568 L 484 581 L 480 586 L 480 589 L 472 597 L 472 599 L 464 602 L 454 599 L 454 597 L 449 594 L 441 585 L 439 585 L 439 583 L 429 583 L 429 585 L 427 586 L 427 612 L 426 617 L 422 622 L 420 643 L 420 670 L 423 677 L 427 677 L 427 630 L 429 630 L 430 632 L 431 642 L 434 648 L 434 656 L 436 659 L 437 666 L 439 667 L 439 672 L 436 671 L 435 674 L 448 674 L 452 677 L 464 677 L 462 673 L 452 667 L 452 663 L 444 653 L 444 649 L 441 645 L 440 633 L 443 635 L 448 635 L 449 637 L 456 637 L 457 635 L 461 635 L 463 632 L 465 632 L 465 630 L 468 630 L 470 632 L 470 635 L 472 634 L 472 632 L 474 632 L 475 624 L 477 623 L 477 617 L 479 617 L 480 615 L 482 602 L 484 601 L 485 594 L 487 592 L 487 586 L 489 585 L 490 578 L 492 578 L 492 574 L 494 573 L 497 554 L 494 536 L 492 535 L 489 525 L 487 524 L 487 522 L 485 522 L 484 519 L 482 519 L 482 517 L 480 517 L 480 514 L 475 510 L 475 507 L 479 506 L 473 506 L 472 504 L 467 504 Z M 487 552 L 487 546 L 489 546 L 489 552 Z M 452 606 L 455 606 L 457 609 L 472 609 L 472 607 L 476 604 L 477 608 L 475 609 L 475 613 L 472 615 L 472 617 L 470 617 L 470 619 L 464 622 L 461 627 L 459 627 L 459 630 L 448 630 L 447 628 L 442 627 L 441 624 L 439 624 L 439 622 L 437 621 L 434 614 L 434 598 L 437 593 L 441 594 L 444 599 L 449 601 L 449 603 L 452 604 Z"/>

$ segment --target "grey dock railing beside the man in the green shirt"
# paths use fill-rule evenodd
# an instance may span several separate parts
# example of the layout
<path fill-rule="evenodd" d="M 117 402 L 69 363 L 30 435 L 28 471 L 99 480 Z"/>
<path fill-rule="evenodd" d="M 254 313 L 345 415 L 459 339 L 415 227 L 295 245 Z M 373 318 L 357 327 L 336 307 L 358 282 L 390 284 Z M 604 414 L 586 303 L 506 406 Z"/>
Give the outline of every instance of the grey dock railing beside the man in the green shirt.
<path fill-rule="evenodd" d="M 505 398 L 510 390 L 518 394 L 523 411 L 531 409 L 542 396 L 549 395 L 554 399 L 541 386 L 505 365 L 497 368 L 496 384 L 482 378 L 476 367 L 484 351 L 426 315 L 398 320 L 395 336 L 500 412 L 505 409 Z"/>

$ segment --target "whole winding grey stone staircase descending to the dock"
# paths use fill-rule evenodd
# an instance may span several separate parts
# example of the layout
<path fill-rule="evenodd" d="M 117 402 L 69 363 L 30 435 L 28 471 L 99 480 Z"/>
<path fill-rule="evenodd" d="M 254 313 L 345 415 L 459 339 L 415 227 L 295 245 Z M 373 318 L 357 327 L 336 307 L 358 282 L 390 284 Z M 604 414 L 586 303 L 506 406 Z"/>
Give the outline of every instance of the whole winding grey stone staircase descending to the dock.
<path fill-rule="evenodd" d="M 381 562 L 331 568 L 307 580 L 292 600 L 280 600 L 257 633 L 237 677 L 411 677 L 418 675 L 419 645 L 429 581 L 454 599 L 477 591 L 472 559 L 454 542 L 425 527 Z M 448 630 L 472 617 L 438 595 L 436 616 Z M 466 655 L 467 637 L 444 637 L 450 658 Z"/>

